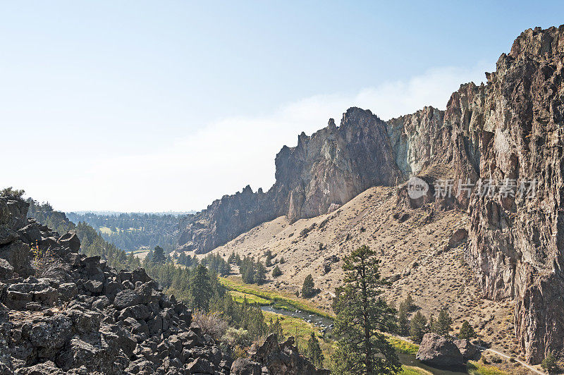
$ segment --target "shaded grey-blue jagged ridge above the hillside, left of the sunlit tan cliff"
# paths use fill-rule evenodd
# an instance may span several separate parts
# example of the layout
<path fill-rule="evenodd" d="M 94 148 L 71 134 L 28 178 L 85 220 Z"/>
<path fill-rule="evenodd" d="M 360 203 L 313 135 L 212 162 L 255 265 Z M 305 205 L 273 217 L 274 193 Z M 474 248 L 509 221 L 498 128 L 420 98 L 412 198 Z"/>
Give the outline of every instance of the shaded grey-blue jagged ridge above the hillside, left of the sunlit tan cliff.
<path fill-rule="evenodd" d="M 311 136 L 300 134 L 298 145 L 282 147 L 275 164 L 276 183 L 268 192 L 247 186 L 214 201 L 185 223 L 180 249 L 208 252 L 265 221 L 324 214 L 368 187 L 394 185 L 403 176 L 386 123 L 358 108 L 348 109 L 339 127 L 331 119 Z"/>

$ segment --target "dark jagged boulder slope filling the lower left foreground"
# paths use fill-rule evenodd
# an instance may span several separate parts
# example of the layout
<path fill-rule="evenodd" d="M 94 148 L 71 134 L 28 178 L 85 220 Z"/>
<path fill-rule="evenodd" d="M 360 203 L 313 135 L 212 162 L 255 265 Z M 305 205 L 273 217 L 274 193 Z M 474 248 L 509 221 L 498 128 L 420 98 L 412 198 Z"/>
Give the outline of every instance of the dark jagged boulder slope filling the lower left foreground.
<path fill-rule="evenodd" d="M 0 374 L 231 374 L 233 359 L 144 269 L 86 257 L 75 233 L 26 214 L 0 197 Z M 272 340 L 252 357 L 259 374 L 325 374 Z"/>

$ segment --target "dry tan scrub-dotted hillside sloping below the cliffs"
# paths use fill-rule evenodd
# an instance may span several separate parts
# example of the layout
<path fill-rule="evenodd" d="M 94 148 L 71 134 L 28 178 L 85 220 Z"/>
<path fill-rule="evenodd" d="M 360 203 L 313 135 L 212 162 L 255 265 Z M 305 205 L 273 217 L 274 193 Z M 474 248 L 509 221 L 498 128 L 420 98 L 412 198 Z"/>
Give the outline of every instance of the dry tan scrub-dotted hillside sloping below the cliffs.
<path fill-rule="evenodd" d="M 494 348 L 513 352 L 513 307 L 509 302 L 484 300 L 464 262 L 465 242 L 446 249 L 451 235 L 467 226 L 459 211 L 398 209 L 396 188 L 372 187 L 339 209 L 312 219 L 290 223 L 285 216 L 243 233 L 214 253 L 231 252 L 261 257 L 271 250 L 282 276 L 269 276 L 267 288 L 295 292 L 311 273 L 321 293 L 313 298 L 329 310 L 331 297 L 343 277 L 342 258 L 360 245 L 381 254 L 383 276 L 398 278 L 385 297 L 398 302 L 411 293 L 422 312 L 438 314 L 448 307 L 455 328 L 468 319 Z M 286 262 L 279 264 L 283 257 Z M 269 268 L 271 271 L 274 265 Z M 236 272 L 235 267 L 235 272 Z"/>

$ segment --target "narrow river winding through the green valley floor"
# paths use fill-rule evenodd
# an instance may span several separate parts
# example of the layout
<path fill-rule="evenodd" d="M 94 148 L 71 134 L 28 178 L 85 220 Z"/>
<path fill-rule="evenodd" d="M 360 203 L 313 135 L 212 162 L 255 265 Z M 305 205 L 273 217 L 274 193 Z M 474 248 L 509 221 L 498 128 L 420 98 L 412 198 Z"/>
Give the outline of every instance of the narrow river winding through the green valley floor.
<path fill-rule="evenodd" d="M 321 330 L 324 331 L 324 333 L 326 335 L 331 335 L 331 333 L 333 333 L 333 320 L 326 318 L 324 316 L 319 316 L 319 315 L 316 315 L 316 314 L 310 314 L 309 312 L 302 312 L 300 310 L 286 311 L 286 310 L 283 310 L 283 309 L 276 309 L 276 307 L 273 307 L 272 305 L 263 306 L 262 311 L 274 312 L 276 314 L 282 314 L 282 315 L 286 315 L 286 316 L 293 316 L 295 318 L 300 318 L 300 319 L 303 319 L 304 321 L 307 321 L 307 323 L 309 323 L 309 324 L 312 324 L 314 326 L 321 328 Z M 405 364 L 406 366 L 419 367 L 419 368 L 425 369 L 425 370 L 431 372 L 431 374 L 435 374 L 435 375 L 464 375 L 464 374 L 468 374 L 468 371 L 467 371 L 465 366 L 460 367 L 458 369 L 450 369 L 450 368 L 449 369 L 439 369 L 437 367 L 431 367 L 427 364 L 424 364 L 423 362 L 415 359 L 415 355 L 412 355 L 412 354 L 398 353 L 398 357 L 400 359 L 400 362 L 402 364 Z"/>

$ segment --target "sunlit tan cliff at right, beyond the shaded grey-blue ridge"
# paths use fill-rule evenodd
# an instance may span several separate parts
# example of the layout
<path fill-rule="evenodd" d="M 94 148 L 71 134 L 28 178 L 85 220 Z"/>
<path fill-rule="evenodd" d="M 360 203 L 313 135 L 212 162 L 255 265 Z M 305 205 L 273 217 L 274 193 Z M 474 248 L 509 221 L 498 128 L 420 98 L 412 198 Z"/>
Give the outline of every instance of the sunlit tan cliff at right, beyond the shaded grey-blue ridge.
<path fill-rule="evenodd" d="M 388 122 L 403 171 L 429 183 L 455 180 L 456 202 L 444 206 L 467 207 L 469 260 L 486 297 L 515 299 L 517 338 L 532 363 L 564 345 L 563 56 L 563 26 L 527 30 L 486 73 L 487 85 L 462 85 L 444 113 L 424 109 Z M 536 180 L 537 191 L 474 190 L 469 199 L 458 178 Z"/>

